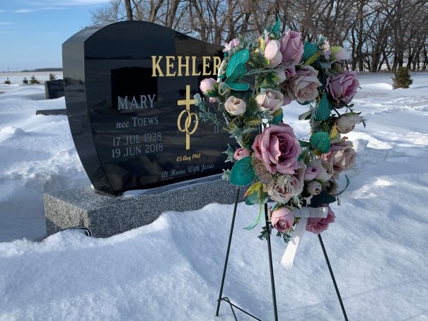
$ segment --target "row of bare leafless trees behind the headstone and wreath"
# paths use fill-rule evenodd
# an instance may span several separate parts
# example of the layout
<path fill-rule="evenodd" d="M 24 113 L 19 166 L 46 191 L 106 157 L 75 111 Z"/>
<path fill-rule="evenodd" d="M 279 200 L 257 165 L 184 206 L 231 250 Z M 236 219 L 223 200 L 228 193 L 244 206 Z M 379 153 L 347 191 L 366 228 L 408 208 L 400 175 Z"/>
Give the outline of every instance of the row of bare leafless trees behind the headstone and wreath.
<path fill-rule="evenodd" d="M 352 70 L 427 70 L 428 0 L 110 0 L 91 12 L 96 24 L 149 21 L 216 45 L 260 35 L 277 15 L 304 40 L 344 46 Z"/>

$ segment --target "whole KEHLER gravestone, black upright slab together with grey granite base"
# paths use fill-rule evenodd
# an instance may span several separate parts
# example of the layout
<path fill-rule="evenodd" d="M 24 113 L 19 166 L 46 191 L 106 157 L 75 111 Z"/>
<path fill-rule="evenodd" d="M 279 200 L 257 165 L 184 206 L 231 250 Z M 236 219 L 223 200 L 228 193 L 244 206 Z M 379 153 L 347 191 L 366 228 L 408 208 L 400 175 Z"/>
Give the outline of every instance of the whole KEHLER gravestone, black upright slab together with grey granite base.
<path fill-rule="evenodd" d="M 199 121 L 193 105 L 200 81 L 216 78 L 222 54 L 141 21 L 85 28 L 64 42 L 71 135 L 94 189 L 45 194 L 48 234 L 84 224 L 105 237 L 161 211 L 234 202 L 235 189 L 219 173 L 231 164 L 222 152 L 236 142 Z M 130 189 L 148 192 L 120 196 Z"/>

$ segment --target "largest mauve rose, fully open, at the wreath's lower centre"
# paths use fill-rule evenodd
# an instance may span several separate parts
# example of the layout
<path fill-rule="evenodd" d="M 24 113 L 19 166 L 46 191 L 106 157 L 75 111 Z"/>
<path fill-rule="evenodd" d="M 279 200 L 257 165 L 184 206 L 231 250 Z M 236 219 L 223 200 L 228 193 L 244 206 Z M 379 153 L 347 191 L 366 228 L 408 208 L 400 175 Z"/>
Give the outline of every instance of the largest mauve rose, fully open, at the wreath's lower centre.
<path fill-rule="evenodd" d="M 272 174 L 277 172 L 294 174 L 294 170 L 297 169 L 301 147 L 288 124 L 270 125 L 262 134 L 255 137 L 252 148 L 255 157 L 262 161 Z"/>

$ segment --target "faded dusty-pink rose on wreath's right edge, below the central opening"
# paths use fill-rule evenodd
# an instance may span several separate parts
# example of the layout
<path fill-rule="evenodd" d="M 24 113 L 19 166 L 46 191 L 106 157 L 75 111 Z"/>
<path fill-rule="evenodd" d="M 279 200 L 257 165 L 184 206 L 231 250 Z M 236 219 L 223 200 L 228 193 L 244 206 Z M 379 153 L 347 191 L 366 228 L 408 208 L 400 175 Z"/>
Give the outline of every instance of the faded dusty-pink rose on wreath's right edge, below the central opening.
<path fill-rule="evenodd" d="M 352 147 L 352 141 L 347 141 L 347 137 L 334 139 L 331 141 L 330 151 L 321 155 L 321 158 L 332 165 L 335 171 L 333 177 L 337 178 L 344 170 L 350 170 L 354 167 L 357 153 L 355 153 Z"/>

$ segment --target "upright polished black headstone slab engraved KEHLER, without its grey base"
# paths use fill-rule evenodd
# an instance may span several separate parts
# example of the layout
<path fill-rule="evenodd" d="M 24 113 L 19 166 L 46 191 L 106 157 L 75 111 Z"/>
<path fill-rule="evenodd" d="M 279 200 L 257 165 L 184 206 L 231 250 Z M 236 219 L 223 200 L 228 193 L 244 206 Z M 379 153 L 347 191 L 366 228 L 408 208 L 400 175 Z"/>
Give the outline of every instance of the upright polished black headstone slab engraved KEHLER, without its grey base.
<path fill-rule="evenodd" d="M 229 134 L 197 118 L 193 95 L 216 78 L 222 47 L 126 21 L 64 42 L 71 134 L 93 186 L 120 194 L 221 173 Z M 214 110 L 213 106 L 213 110 Z"/>

